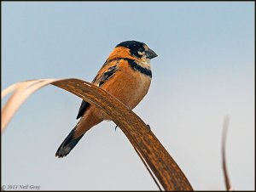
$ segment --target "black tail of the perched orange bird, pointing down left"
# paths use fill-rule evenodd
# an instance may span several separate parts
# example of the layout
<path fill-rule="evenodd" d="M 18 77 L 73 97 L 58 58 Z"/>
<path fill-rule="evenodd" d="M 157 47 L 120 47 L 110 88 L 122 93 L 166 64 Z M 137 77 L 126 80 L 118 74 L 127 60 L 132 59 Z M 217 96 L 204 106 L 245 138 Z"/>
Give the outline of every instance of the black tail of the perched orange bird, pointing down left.
<path fill-rule="evenodd" d="M 69 152 L 73 150 L 74 146 L 79 143 L 79 140 L 84 136 L 84 134 L 82 134 L 79 136 L 79 138 L 73 138 L 75 129 L 76 127 L 73 128 L 73 130 L 67 135 L 67 138 L 65 138 L 65 140 L 62 142 L 55 154 L 56 157 L 64 157 L 68 155 Z"/>

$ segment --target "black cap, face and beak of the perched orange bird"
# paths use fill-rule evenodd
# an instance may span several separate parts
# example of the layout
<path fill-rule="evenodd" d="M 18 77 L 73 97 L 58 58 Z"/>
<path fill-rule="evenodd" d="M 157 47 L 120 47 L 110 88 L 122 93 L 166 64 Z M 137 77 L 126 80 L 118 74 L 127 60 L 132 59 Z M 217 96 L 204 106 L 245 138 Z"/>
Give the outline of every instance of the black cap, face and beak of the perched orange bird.
<path fill-rule="evenodd" d="M 148 59 L 152 59 L 157 56 L 148 46 L 143 42 L 137 41 L 126 41 L 120 42 L 116 48 L 125 47 L 130 49 L 130 53 L 137 58 L 142 58 L 144 55 L 148 57 Z"/>

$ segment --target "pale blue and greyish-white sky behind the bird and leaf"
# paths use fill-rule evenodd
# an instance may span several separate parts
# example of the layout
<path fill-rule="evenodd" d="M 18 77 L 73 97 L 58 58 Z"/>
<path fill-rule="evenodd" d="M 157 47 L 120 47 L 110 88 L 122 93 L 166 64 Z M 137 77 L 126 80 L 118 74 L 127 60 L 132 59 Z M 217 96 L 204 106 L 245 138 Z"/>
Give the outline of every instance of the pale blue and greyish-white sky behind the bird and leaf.
<path fill-rule="evenodd" d="M 159 56 L 134 111 L 201 190 L 225 189 L 221 133 L 229 115 L 231 184 L 255 189 L 253 2 L 2 2 L 1 14 L 2 90 L 38 78 L 90 82 L 119 42 L 145 42 Z M 158 189 L 111 121 L 92 128 L 67 157 L 55 158 L 80 102 L 54 86 L 26 100 L 2 136 L 2 184 Z"/>

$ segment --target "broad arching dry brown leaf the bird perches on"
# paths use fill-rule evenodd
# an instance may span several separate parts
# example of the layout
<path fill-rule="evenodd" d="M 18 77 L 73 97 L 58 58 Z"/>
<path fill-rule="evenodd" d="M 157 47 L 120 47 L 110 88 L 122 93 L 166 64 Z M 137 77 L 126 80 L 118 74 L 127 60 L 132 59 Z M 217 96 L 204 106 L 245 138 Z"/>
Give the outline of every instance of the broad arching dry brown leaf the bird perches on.
<path fill-rule="evenodd" d="M 132 110 L 128 109 L 125 104 L 122 104 L 118 99 L 115 99 L 112 95 L 102 90 L 102 88 L 98 88 L 90 82 L 84 82 L 79 79 L 46 79 L 27 83 L 29 85 L 26 82 L 16 85 L 16 88 L 20 88 L 18 89 L 19 91 L 16 89 L 15 95 L 11 96 L 11 101 L 8 101 L 3 107 L 2 120 L 5 120 L 2 124 L 2 132 L 15 111 L 18 110 L 20 104 L 24 102 L 29 94 L 51 83 L 79 96 L 90 104 L 95 104 L 107 113 L 108 116 L 111 116 L 112 120 L 130 140 L 133 147 L 142 155 L 148 167 L 154 172 L 154 175 L 158 178 L 164 189 L 192 190 L 188 179 L 177 166 L 177 163 L 172 159 L 172 156 L 169 155 L 163 145 L 160 144 L 154 133 L 148 131 L 147 125 Z"/>

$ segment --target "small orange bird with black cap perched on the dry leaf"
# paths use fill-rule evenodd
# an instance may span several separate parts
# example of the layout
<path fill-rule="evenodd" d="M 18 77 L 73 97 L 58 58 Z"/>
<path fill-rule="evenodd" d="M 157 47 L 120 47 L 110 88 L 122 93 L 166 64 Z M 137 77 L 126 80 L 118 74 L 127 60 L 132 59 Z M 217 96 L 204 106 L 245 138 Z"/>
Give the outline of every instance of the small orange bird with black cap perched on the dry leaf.
<path fill-rule="evenodd" d="M 157 56 L 143 42 L 120 42 L 113 48 L 92 83 L 132 110 L 148 93 L 152 78 L 150 59 Z M 102 114 L 102 110 L 95 105 L 82 100 L 77 116 L 79 122 L 62 142 L 55 156 L 61 158 L 68 155 L 91 127 L 109 120 L 108 116 Z"/>

